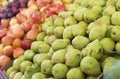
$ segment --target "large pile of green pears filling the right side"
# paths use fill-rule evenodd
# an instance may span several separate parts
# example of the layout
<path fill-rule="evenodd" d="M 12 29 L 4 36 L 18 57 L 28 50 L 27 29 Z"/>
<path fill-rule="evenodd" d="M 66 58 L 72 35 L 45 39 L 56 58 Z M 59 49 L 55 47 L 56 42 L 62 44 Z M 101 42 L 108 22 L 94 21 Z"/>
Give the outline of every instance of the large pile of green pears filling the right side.
<path fill-rule="evenodd" d="M 46 19 L 9 79 L 120 78 L 120 0 L 74 0 Z M 100 79 L 100 78 L 99 78 Z"/>

